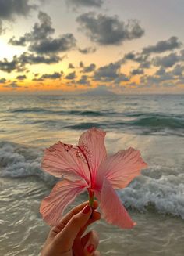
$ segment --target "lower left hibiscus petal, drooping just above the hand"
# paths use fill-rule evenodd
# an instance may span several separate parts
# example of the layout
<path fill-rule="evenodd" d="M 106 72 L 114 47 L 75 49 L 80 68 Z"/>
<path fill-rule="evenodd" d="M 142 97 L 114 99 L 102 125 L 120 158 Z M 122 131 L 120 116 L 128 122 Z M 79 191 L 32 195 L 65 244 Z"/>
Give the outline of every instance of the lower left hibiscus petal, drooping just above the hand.
<path fill-rule="evenodd" d="M 48 225 L 58 225 L 62 218 L 62 213 L 79 193 L 87 188 L 87 183 L 83 180 L 70 182 L 62 180 L 56 183 L 48 197 L 41 202 L 40 212 Z"/>

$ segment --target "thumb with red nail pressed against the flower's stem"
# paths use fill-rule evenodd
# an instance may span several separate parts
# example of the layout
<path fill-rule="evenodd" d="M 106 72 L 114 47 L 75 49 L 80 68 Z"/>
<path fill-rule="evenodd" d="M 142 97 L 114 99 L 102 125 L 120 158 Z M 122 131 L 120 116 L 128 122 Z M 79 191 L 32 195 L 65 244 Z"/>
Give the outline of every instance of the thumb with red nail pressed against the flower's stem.
<path fill-rule="evenodd" d="M 92 209 L 89 205 L 87 205 L 78 214 L 73 215 L 73 217 L 65 225 L 65 228 L 58 233 L 55 238 L 57 243 L 62 243 L 63 249 L 69 250 L 73 247 L 73 242 L 76 239 L 77 234 L 80 232 L 80 229 L 87 224 L 91 213 Z"/>

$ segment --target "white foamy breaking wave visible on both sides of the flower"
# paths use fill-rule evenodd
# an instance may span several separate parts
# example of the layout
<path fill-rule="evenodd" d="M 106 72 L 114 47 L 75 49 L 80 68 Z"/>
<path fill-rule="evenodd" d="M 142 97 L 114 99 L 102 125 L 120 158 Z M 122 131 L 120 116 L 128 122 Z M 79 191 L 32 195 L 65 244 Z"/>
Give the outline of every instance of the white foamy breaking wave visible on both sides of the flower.
<path fill-rule="evenodd" d="M 51 186 L 57 181 L 41 170 L 43 150 L 14 142 L 0 142 L 0 176 L 24 178 L 36 176 Z M 126 207 L 139 211 L 158 211 L 184 219 L 183 168 L 150 166 L 119 192 Z"/>

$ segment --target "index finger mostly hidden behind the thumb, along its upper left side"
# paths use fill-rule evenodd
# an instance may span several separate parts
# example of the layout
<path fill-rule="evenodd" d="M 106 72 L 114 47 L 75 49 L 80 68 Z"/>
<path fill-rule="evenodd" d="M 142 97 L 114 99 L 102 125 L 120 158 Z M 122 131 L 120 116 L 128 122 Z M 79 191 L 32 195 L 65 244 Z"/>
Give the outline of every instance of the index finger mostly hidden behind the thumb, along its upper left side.
<path fill-rule="evenodd" d="M 84 208 L 85 206 L 87 206 L 88 204 L 89 204 L 89 201 L 86 201 L 86 202 L 84 202 L 83 204 L 77 205 L 77 206 L 74 207 L 71 211 L 69 211 L 69 213 L 66 214 L 66 215 L 62 218 L 60 224 L 57 225 L 58 229 L 59 229 L 60 226 L 61 226 L 61 230 L 62 230 L 62 229 L 63 229 L 63 225 L 65 226 L 65 225 L 69 222 L 69 220 L 70 220 L 74 215 L 76 215 L 76 214 L 78 214 L 78 212 L 82 211 L 83 208 Z M 94 207 L 93 207 L 93 210 L 97 209 L 97 207 L 98 207 L 98 203 L 97 203 L 96 200 L 94 200 Z"/>

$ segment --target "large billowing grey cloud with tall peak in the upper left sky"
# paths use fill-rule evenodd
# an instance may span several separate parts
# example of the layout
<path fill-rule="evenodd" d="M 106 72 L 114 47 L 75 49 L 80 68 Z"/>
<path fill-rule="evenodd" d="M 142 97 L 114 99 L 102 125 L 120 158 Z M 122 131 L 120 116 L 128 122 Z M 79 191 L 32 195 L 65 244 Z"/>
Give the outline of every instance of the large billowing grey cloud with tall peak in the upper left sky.
<path fill-rule="evenodd" d="M 66 52 L 76 46 L 76 39 L 73 34 L 62 34 L 58 38 L 52 38 L 55 29 L 51 27 L 51 17 L 47 13 L 39 12 L 38 23 L 34 24 L 33 30 L 30 33 L 24 34 L 21 38 L 15 37 L 9 40 L 12 45 L 25 45 L 29 43 L 30 52 L 47 55 Z"/>

